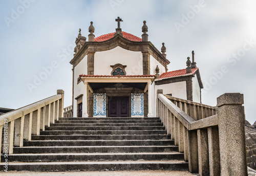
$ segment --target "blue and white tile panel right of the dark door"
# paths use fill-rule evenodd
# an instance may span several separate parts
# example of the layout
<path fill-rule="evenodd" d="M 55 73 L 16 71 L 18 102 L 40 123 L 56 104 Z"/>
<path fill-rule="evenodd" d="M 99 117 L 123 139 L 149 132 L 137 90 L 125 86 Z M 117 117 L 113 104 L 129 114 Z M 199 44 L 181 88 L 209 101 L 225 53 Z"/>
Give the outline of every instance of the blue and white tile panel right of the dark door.
<path fill-rule="evenodd" d="M 144 117 L 144 98 L 142 93 L 135 94 L 132 96 L 132 117 Z"/>

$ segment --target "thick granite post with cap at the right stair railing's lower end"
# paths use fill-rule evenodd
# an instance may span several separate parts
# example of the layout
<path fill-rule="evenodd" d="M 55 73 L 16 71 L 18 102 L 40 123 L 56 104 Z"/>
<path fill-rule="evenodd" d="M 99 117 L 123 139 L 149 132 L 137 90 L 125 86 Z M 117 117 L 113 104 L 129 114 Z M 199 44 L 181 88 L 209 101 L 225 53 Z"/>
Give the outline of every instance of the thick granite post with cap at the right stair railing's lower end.
<path fill-rule="evenodd" d="M 225 93 L 217 98 L 221 176 L 246 176 L 244 96 Z"/>

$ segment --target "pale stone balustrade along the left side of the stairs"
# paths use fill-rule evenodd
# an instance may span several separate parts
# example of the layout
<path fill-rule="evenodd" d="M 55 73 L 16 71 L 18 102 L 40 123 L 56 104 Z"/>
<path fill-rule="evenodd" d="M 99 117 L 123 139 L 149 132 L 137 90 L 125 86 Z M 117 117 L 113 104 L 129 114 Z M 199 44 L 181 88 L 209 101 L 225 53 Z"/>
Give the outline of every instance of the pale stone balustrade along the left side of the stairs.
<path fill-rule="evenodd" d="M 14 146 L 22 147 L 23 140 L 30 141 L 31 135 L 39 135 L 45 126 L 63 117 L 63 102 L 64 91 L 57 90 L 57 95 L 1 115 L 0 151 L 3 146 L 4 154 L 12 154 Z"/>

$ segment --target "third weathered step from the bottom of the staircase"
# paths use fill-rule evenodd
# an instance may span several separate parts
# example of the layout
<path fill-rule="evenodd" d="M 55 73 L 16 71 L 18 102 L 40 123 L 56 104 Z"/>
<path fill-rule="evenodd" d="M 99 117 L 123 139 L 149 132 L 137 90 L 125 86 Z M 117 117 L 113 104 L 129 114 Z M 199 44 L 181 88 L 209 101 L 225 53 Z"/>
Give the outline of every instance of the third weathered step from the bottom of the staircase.
<path fill-rule="evenodd" d="M 136 153 L 178 150 L 178 146 L 33 146 L 14 147 L 13 153 Z"/>

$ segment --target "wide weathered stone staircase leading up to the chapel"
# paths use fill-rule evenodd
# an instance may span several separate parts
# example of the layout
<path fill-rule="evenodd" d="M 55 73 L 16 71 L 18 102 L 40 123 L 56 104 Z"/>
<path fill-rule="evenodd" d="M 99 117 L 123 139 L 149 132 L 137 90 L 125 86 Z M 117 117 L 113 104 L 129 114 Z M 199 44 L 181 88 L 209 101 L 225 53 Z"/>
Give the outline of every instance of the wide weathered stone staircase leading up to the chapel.
<path fill-rule="evenodd" d="M 159 118 L 59 118 L 8 160 L 8 170 L 188 170 Z"/>

